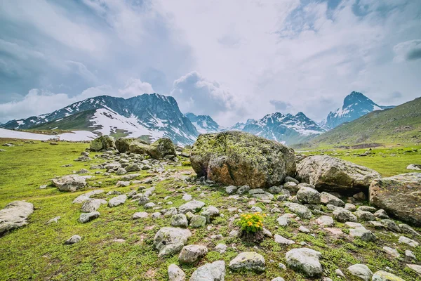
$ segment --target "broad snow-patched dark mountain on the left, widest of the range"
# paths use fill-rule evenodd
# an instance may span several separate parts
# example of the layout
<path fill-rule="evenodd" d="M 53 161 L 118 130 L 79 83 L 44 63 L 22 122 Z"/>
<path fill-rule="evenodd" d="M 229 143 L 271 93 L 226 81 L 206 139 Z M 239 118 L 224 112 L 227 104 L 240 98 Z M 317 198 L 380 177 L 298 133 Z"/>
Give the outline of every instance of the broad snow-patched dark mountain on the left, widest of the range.
<path fill-rule="evenodd" d="M 199 132 L 175 99 L 156 93 L 133 98 L 98 96 L 73 103 L 46 115 L 12 120 L 4 129 L 79 129 L 98 135 L 171 138 L 182 145 L 194 143 Z"/>

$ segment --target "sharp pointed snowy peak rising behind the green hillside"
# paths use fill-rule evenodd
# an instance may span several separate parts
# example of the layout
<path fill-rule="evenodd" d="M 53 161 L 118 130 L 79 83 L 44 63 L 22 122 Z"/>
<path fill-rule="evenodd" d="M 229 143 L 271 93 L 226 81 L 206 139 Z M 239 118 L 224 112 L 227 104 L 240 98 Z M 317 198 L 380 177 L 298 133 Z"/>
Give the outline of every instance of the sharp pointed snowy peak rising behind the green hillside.
<path fill-rule="evenodd" d="M 338 108 L 334 112 L 329 112 L 328 117 L 320 126 L 325 129 L 333 129 L 340 124 L 355 120 L 374 110 L 384 110 L 393 107 L 377 105 L 362 93 L 353 91 L 345 97 L 342 108 Z"/>

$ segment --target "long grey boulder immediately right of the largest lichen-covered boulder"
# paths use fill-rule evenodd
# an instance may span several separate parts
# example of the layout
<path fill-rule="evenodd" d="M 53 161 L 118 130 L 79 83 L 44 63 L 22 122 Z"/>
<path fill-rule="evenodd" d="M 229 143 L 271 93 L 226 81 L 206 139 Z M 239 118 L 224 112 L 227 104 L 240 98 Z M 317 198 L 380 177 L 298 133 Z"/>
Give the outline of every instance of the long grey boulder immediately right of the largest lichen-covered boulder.
<path fill-rule="evenodd" d="M 375 178 L 381 178 L 377 171 L 326 155 L 310 156 L 297 165 L 299 181 L 316 186 L 317 190 L 355 194 L 368 191 Z"/>

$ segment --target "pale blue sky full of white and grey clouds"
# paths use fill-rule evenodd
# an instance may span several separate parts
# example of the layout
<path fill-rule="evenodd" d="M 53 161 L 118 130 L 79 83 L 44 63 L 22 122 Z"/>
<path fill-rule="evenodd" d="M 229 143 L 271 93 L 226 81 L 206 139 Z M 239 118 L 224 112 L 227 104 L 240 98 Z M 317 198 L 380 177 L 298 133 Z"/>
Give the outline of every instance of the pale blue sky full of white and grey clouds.
<path fill-rule="evenodd" d="M 421 96 L 421 1 L 1 1 L 0 122 L 161 93 L 223 126 Z"/>

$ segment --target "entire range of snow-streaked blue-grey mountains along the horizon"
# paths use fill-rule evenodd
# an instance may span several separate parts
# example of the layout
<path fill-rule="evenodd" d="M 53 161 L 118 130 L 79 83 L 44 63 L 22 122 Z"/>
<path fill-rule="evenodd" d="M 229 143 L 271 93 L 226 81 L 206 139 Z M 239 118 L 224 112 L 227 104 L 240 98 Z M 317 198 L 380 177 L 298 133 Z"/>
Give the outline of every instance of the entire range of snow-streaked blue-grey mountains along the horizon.
<path fill-rule="evenodd" d="M 48 114 L 11 120 L 1 124 L 0 128 L 83 130 L 98 136 L 132 136 L 149 140 L 168 137 L 180 145 L 194 143 L 200 133 L 236 130 L 291 145 L 310 141 L 340 124 L 386 108 L 390 107 L 377 105 L 362 93 L 352 92 L 345 97 L 342 109 L 330 112 L 321 124 L 302 112 L 296 115 L 274 112 L 262 119 L 248 119 L 246 123 L 224 128 L 208 115 L 191 112 L 183 115 L 171 96 L 145 93 L 128 99 L 111 96 L 88 98 Z"/>

